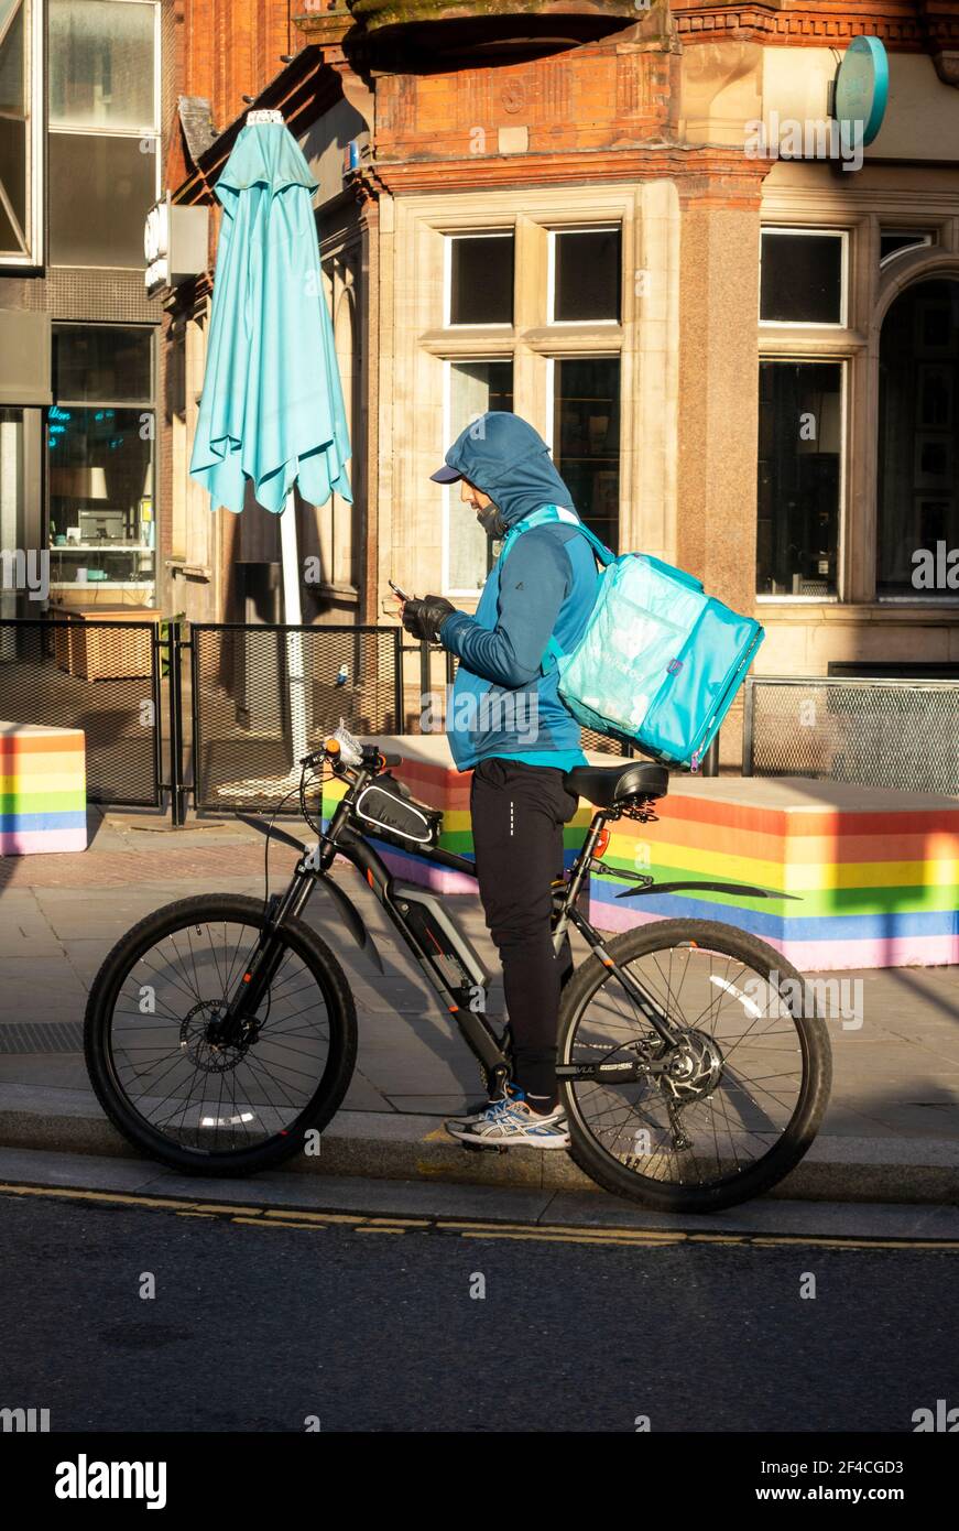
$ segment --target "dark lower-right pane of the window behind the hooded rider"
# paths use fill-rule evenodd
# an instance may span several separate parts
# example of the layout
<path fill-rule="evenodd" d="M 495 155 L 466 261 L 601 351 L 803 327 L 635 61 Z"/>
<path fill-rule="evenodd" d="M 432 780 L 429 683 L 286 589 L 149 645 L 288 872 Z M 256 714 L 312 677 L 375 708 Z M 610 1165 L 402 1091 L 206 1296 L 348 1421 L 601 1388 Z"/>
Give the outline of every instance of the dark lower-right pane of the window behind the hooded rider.
<path fill-rule="evenodd" d="M 619 358 L 554 363 L 552 458 L 580 516 L 609 548 L 619 542 Z"/>

